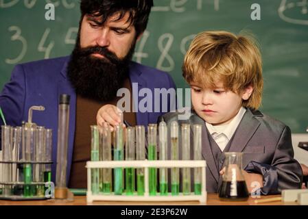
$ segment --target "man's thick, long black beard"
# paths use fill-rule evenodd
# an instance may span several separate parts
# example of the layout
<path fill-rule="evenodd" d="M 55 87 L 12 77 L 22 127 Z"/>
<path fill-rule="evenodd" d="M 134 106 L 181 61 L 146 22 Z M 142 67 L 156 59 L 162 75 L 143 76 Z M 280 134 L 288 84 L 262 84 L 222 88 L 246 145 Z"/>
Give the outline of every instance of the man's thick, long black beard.
<path fill-rule="evenodd" d="M 123 82 L 128 78 L 135 44 L 136 40 L 132 42 L 128 54 L 119 59 L 106 47 L 81 48 L 78 38 L 67 68 L 76 94 L 100 102 L 115 99 L 117 90 L 123 87 Z M 93 53 L 104 55 L 104 58 L 93 57 Z"/>

